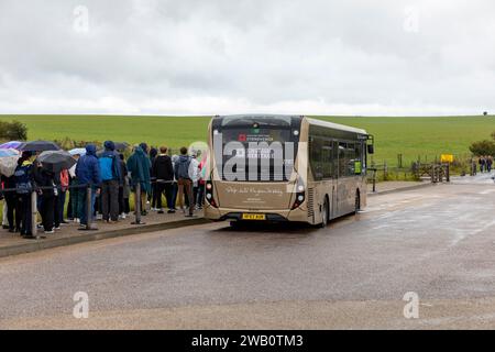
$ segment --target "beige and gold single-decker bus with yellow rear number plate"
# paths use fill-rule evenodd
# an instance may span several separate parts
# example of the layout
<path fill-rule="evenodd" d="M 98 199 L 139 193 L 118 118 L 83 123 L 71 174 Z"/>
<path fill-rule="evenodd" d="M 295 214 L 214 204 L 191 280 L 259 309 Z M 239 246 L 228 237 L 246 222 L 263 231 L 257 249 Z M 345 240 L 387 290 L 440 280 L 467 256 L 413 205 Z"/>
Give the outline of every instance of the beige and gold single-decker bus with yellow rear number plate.
<path fill-rule="evenodd" d="M 326 227 L 366 205 L 361 129 L 301 116 L 224 116 L 209 125 L 205 216 Z"/>

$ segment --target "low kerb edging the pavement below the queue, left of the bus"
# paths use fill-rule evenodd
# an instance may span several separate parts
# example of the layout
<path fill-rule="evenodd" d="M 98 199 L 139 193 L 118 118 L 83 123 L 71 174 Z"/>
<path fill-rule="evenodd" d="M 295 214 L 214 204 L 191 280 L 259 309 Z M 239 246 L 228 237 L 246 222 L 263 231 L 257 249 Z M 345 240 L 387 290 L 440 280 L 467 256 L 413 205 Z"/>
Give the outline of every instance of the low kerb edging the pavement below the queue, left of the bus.
<path fill-rule="evenodd" d="M 178 220 L 163 223 L 154 223 L 154 224 L 144 224 L 140 227 L 120 229 L 120 230 L 111 230 L 111 231 L 102 231 L 102 232 L 91 232 L 86 234 L 79 234 L 76 237 L 68 237 L 62 239 L 54 240 L 33 240 L 29 243 L 16 244 L 12 246 L 0 248 L 0 257 L 33 253 L 43 250 L 55 249 L 59 246 L 67 246 L 72 244 L 78 244 L 84 242 L 91 241 L 100 241 L 108 240 L 114 238 L 121 238 L 127 235 L 134 235 L 161 230 L 172 230 L 177 228 L 186 228 L 197 224 L 208 223 L 209 220 L 205 218 L 196 218 L 196 219 L 187 219 L 187 220 Z"/>

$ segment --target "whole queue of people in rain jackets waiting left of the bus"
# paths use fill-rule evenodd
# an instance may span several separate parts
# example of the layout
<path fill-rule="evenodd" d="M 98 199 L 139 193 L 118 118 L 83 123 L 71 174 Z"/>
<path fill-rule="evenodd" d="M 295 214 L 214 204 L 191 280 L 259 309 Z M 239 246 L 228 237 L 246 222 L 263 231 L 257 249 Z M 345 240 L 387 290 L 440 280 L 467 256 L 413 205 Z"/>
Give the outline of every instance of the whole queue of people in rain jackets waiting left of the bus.
<path fill-rule="evenodd" d="M 84 152 L 73 155 L 76 163 L 72 168 L 56 173 L 44 168 L 35 153 L 23 152 L 14 174 L 1 176 L 3 229 L 33 238 L 33 191 L 37 194 L 42 220 L 37 227 L 45 234 L 55 233 L 70 222 L 81 228 L 95 219 L 117 223 L 130 216 L 131 194 L 135 198 L 138 188 L 141 216 L 147 216 L 148 211 L 163 215 L 165 210 L 167 213 L 182 210 L 186 217 L 194 217 L 202 208 L 205 162 L 198 162 L 197 152 L 189 153 L 183 147 L 180 155 L 170 156 L 166 146 L 148 148 L 141 143 L 125 161 L 112 141 L 103 146 L 98 153 L 96 145 L 87 145 Z"/>

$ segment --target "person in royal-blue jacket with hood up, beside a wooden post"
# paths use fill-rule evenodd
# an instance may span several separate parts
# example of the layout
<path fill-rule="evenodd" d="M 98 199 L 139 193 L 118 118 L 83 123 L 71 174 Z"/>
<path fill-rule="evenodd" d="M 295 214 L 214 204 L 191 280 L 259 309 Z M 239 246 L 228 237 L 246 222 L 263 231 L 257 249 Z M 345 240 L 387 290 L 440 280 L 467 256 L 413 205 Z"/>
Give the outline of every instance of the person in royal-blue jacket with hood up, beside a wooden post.
<path fill-rule="evenodd" d="M 100 194 L 101 174 L 100 163 L 97 157 L 95 144 L 86 146 L 86 155 L 79 157 L 76 165 L 76 177 L 79 185 L 89 186 L 91 189 L 90 212 L 88 213 L 87 196 L 85 189 L 80 188 L 79 200 L 81 204 L 80 226 L 87 227 L 92 222 L 95 212 L 95 200 L 97 194 Z"/>

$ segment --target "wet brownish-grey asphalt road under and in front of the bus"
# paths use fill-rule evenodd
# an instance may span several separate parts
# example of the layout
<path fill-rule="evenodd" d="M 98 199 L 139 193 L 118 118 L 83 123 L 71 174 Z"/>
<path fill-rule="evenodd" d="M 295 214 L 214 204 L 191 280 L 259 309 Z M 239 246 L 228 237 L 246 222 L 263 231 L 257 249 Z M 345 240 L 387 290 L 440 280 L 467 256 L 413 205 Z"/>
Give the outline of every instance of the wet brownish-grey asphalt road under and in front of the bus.
<path fill-rule="evenodd" d="M 211 223 L 2 258 L 0 328 L 495 327 L 495 184 L 465 179 L 327 229 Z"/>

